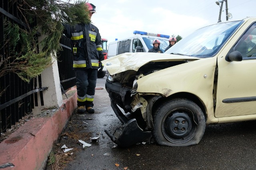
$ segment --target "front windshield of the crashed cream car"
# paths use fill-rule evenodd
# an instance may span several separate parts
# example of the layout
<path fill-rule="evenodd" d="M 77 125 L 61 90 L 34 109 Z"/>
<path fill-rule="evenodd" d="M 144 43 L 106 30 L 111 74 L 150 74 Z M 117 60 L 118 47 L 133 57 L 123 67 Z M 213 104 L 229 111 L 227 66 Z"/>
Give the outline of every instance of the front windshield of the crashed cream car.
<path fill-rule="evenodd" d="M 218 23 L 196 30 L 168 49 L 166 54 L 212 57 L 243 21 Z"/>

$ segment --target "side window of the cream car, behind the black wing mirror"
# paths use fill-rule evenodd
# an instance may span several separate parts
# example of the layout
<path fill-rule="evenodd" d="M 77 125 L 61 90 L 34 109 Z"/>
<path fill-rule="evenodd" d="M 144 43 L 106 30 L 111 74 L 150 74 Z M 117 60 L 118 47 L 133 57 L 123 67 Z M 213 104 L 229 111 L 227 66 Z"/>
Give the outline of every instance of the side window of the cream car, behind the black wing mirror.
<path fill-rule="evenodd" d="M 256 58 L 256 23 L 254 23 L 234 47 L 242 54 L 243 60 Z"/>

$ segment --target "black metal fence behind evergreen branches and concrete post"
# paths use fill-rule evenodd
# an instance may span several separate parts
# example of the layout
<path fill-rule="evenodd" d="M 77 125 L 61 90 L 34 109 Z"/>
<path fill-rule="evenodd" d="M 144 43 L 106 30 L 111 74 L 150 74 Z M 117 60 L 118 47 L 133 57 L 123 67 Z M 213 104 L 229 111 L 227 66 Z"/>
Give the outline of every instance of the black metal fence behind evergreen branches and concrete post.
<path fill-rule="evenodd" d="M 24 14 L 18 10 L 18 6 L 26 9 L 23 0 L 0 0 L 0 63 L 8 54 L 8 42 L 4 41 L 4 20 L 10 23 L 18 24 L 22 29 L 26 29 Z M 31 27 L 36 25 L 36 18 L 31 23 Z M 8 37 L 7 37 L 8 38 Z M 5 44 L 5 45 L 4 45 Z M 58 66 L 60 81 L 63 91 L 75 85 L 75 74 L 72 70 L 72 57 L 70 56 L 70 39 L 63 37 L 60 44 L 63 51 L 59 51 Z M 19 47 L 17 47 L 19 52 Z M 4 64 L 0 64 L 0 69 Z M 38 81 L 38 82 L 37 82 Z M 39 86 L 37 85 L 39 84 Z M 29 83 L 21 80 L 16 74 L 9 72 L 0 77 L 0 136 L 5 133 L 7 129 L 11 129 L 12 125 L 19 122 L 26 114 L 32 113 L 32 109 L 38 106 L 44 106 L 43 90 L 48 87 L 43 87 L 41 76 L 32 78 Z M 40 101 L 37 101 L 40 95 Z M 36 100 L 35 100 L 36 99 Z"/>

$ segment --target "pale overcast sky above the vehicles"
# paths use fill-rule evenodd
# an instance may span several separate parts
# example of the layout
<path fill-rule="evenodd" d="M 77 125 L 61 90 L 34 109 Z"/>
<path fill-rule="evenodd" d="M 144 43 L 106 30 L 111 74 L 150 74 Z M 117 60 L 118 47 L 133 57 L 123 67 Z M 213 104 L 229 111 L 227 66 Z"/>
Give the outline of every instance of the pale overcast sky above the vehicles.
<path fill-rule="evenodd" d="M 133 35 L 134 30 L 186 37 L 218 22 L 218 0 L 88 0 L 96 6 L 92 23 L 108 43 Z M 226 21 L 226 3 L 222 21 Z M 228 0 L 228 12 L 238 20 L 256 16 L 256 0 Z"/>

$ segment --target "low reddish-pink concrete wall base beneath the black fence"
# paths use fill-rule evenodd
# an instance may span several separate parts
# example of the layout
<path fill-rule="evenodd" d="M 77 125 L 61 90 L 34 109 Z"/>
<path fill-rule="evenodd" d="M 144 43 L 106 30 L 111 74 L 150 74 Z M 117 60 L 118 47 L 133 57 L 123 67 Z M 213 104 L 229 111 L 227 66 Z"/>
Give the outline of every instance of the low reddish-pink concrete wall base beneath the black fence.
<path fill-rule="evenodd" d="M 66 95 L 68 99 L 62 96 L 64 104 L 59 109 L 34 116 L 0 143 L 0 169 L 44 169 L 54 141 L 76 109 L 76 88 L 70 89 Z"/>

